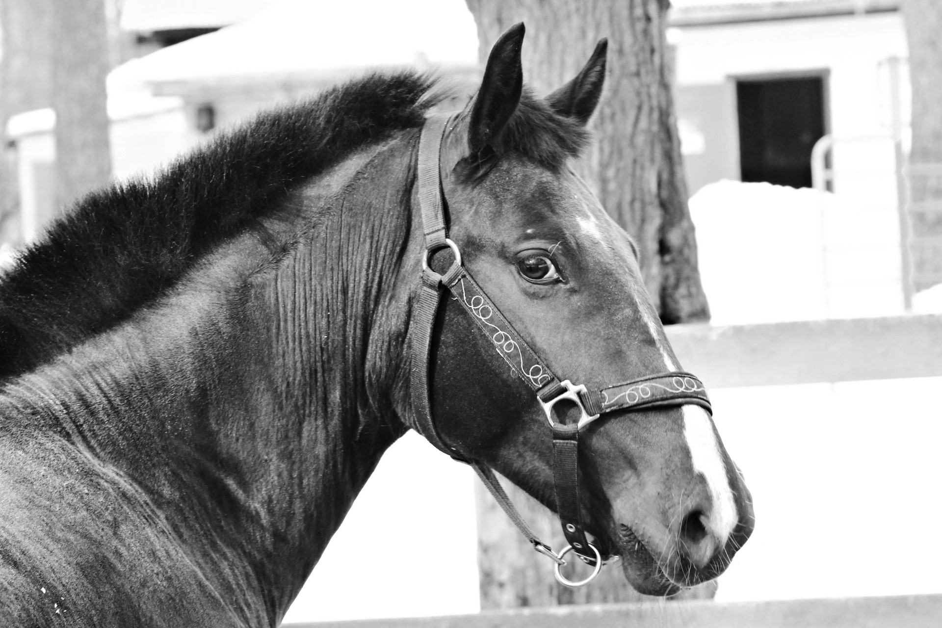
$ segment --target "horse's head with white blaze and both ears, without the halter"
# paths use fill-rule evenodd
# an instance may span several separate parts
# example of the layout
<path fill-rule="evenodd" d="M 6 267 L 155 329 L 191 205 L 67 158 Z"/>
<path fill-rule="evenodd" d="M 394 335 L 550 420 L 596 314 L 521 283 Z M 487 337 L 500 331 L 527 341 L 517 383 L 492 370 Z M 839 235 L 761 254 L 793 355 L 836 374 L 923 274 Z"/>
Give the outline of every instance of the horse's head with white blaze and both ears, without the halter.
<path fill-rule="evenodd" d="M 552 372 L 636 398 L 696 380 L 676 375 L 630 236 L 571 168 L 602 93 L 605 40 L 575 79 L 538 100 L 522 84 L 523 36 L 518 24 L 495 43 L 477 95 L 444 127 L 438 169 L 449 236 L 486 297 L 455 283 L 445 299 L 430 410 L 453 456 L 493 467 L 559 510 L 553 419 L 534 394 L 544 381 L 527 378 Z M 539 356 L 536 371 L 509 366 L 513 332 L 489 330 L 492 311 Z M 753 529 L 749 491 L 698 401 L 608 411 L 578 430 L 576 508 L 600 555 L 622 556 L 642 593 L 716 577 Z M 560 425 L 584 412 L 564 405 L 555 409 Z"/>

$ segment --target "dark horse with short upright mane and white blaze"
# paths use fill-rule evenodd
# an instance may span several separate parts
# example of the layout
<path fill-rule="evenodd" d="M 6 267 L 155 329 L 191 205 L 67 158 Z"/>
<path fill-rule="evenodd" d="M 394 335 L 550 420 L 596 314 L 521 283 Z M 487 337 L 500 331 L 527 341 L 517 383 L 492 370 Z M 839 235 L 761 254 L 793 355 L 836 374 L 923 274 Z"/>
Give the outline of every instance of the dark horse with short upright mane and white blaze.
<path fill-rule="evenodd" d="M 586 413 L 571 380 L 638 396 L 679 367 L 635 246 L 571 167 L 605 42 L 538 98 L 523 37 L 435 127 L 432 183 L 420 145 L 447 90 L 374 73 L 90 193 L 24 251 L 0 280 L 0 624 L 275 626 L 411 427 L 560 509 L 550 434 Z M 451 250 L 506 338 L 424 279 L 454 279 Z M 449 296 L 419 324 L 423 290 Z M 509 343 L 565 390 L 534 395 Z M 691 395 L 574 428 L 567 508 L 642 593 L 716 577 L 754 525 Z"/>

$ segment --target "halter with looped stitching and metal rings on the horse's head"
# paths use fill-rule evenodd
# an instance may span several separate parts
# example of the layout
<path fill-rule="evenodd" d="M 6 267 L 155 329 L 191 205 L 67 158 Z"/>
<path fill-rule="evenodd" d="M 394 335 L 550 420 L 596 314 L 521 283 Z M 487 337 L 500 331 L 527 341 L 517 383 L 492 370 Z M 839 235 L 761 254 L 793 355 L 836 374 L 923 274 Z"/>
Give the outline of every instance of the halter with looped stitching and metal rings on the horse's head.
<path fill-rule="evenodd" d="M 412 427 L 448 456 L 474 467 L 497 504 L 527 537 L 534 549 L 544 556 L 549 556 L 556 563 L 556 579 L 569 587 L 581 587 L 593 580 L 605 563 L 606 557 L 601 556 L 589 542 L 582 523 L 577 461 L 579 431 L 610 411 L 637 411 L 684 404 L 695 404 L 711 411 L 709 399 L 700 380 L 683 371 L 659 373 L 590 390 L 582 384 L 574 384 L 569 379 L 560 380 L 540 360 L 539 355 L 513 329 L 478 282 L 471 277 L 468 269 L 462 264 L 458 245 L 447 238 L 440 162 L 442 139 L 448 123 L 454 119 L 453 114 L 430 116 L 419 139 L 418 200 L 426 250 L 422 258 L 422 280 L 414 301 L 414 319 L 410 327 L 411 393 L 415 414 L 415 425 Z M 444 274 L 439 274 L 430 267 L 430 257 L 434 252 L 446 248 L 451 250 L 454 261 Z M 536 394 L 543 407 L 553 432 L 553 482 L 557 513 L 562 523 L 562 533 L 569 543 L 559 554 L 553 552 L 549 545 L 533 534 L 490 467 L 478 461 L 461 458 L 454 447 L 448 446 L 442 440 L 435 428 L 429 403 L 429 348 L 443 287 L 462 305 L 464 311 L 490 339 L 497 353 Z M 566 425 L 557 420 L 554 409 L 562 401 L 577 407 L 579 417 L 576 422 Z M 566 564 L 562 558 L 570 551 L 594 567 L 592 575 L 585 580 L 572 582 L 562 576 L 560 567 Z"/>

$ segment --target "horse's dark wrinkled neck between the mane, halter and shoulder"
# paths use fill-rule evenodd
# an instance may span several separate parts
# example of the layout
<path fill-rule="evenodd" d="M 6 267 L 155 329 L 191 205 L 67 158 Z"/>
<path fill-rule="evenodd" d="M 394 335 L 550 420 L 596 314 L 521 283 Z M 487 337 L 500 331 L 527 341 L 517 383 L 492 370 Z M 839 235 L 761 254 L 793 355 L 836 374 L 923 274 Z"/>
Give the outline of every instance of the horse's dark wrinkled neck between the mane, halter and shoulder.
<path fill-rule="evenodd" d="M 0 406 L 139 486 L 219 595 L 272 620 L 404 431 L 411 151 L 394 142 L 336 175 L 333 196 L 304 186 L 281 227 L 308 223 L 300 237 L 239 238 Z M 272 248 L 287 251 L 274 264 Z"/>

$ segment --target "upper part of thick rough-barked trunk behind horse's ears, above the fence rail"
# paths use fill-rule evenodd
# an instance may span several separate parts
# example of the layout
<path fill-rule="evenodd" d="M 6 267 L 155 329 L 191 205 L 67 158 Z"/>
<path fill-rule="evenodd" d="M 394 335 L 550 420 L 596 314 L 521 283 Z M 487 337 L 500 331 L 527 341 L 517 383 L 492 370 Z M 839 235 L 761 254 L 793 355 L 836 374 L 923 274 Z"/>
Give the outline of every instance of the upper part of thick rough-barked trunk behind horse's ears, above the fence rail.
<path fill-rule="evenodd" d="M 609 214 L 639 245 L 642 275 L 665 324 L 708 320 L 674 117 L 668 0 L 466 0 L 483 62 L 508 27 L 526 22 L 524 77 L 548 93 L 609 38 L 606 94 L 580 165 Z"/>

